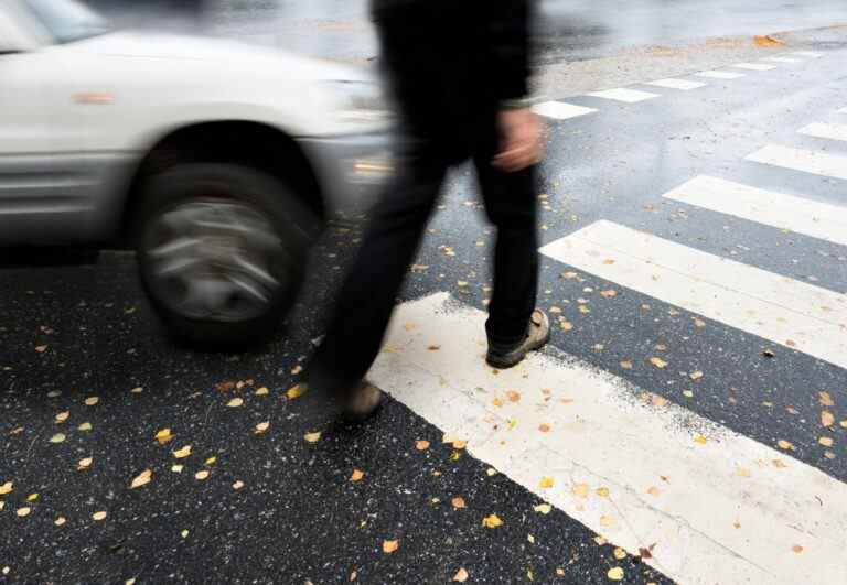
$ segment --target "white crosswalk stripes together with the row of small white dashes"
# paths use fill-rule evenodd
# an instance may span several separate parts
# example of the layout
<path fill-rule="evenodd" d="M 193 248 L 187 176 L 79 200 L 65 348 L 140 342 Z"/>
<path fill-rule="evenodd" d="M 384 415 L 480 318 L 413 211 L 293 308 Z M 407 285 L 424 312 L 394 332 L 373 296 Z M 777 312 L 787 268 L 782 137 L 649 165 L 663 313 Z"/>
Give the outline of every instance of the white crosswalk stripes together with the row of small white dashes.
<path fill-rule="evenodd" d="M 794 52 L 775 63 L 818 56 Z M 775 66 L 740 65 L 751 72 Z M 742 74 L 696 75 L 732 79 Z M 644 85 L 694 90 L 705 84 L 660 79 Z M 591 95 L 626 104 L 655 99 L 643 94 L 619 88 Z M 557 119 L 598 111 L 580 108 L 556 101 L 536 111 Z M 847 139 L 847 127 L 812 122 L 796 133 L 837 144 Z M 792 172 L 845 181 L 847 193 L 847 154 L 830 151 L 828 143 L 787 142 L 762 144 L 739 162 L 755 169 L 751 176 Z M 700 174 L 657 195 L 760 230 L 847 247 L 847 203 L 752 183 Z M 540 253 L 697 319 L 754 336 L 763 348 L 783 347 L 821 360 L 844 372 L 847 388 L 845 290 L 608 219 L 549 241 Z M 446 440 L 467 441 L 473 456 L 610 542 L 633 555 L 651 550 L 644 561 L 672 579 L 847 583 L 847 484 L 793 457 L 791 443 L 755 441 L 555 348 L 514 370 L 494 371 L 482 359 L 484 321 L 484 312 L 447 293 L 406 303 L 372 379 L 440 427 Z M 655 364 L 666 366 L 661 359 Z M 822 433 L 823 427 L 847 429 L 847 420 L 822 421 Z M 833 440 L 822 437 L 821 444 Z"/>

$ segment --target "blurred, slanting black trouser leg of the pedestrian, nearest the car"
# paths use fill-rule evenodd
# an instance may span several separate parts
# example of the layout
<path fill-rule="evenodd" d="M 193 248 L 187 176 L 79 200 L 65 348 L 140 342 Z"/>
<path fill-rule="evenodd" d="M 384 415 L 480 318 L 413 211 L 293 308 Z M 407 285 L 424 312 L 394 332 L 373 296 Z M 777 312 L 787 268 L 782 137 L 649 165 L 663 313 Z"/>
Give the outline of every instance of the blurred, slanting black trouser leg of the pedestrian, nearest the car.
<path fill-rule="evenodd" d="M 379 353 L 447 172 L 447 163 L 421 156 L 405 166 L 372 210 L 358 258 L 310 366 L 311 383 L 336 394 L 364 378 Z"/>

